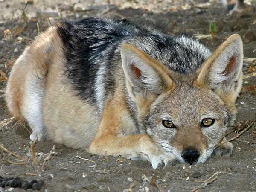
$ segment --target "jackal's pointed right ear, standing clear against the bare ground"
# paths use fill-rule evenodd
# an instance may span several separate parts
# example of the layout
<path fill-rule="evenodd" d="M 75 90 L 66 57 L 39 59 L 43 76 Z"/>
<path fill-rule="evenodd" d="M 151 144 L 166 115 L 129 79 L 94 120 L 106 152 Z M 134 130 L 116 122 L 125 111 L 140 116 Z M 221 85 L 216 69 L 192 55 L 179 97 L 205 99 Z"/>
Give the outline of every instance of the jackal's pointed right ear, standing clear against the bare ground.
<path fill-rule="evenodd" d="M 202 64 L 195 85 L 214 90 L 232 104 L 242 86 L 243 42 L 233 34 Z"/>

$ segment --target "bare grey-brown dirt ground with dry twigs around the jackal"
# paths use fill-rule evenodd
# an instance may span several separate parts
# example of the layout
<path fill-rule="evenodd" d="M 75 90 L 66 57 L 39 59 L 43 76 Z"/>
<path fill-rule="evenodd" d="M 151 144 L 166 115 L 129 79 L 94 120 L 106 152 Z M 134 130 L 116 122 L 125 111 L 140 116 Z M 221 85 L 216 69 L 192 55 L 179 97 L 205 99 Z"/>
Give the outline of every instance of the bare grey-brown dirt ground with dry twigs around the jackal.
<path fill-rule="evenodd" d="M 89 3 L 88 3 L 89 2 Z M 229 35 L 238 33 L 244 40 L 244 56 L 256 58 L 256 41 L 248 35 L 256 29 L 256 17 L 250 14 L 227 16 L 218 1 L 30 1 L 25 8 L 20 1 L 0 1 L 0 70 L 8 77 L 13 62 L 35 36 L 55 22 L 58 17 L 79 19 L 88 16 L 148 20 L 162 26 L 167 33 L 180 32 L 207 35 L 201 39 L 212 51 Z M 206 3 L 205 3 L 206 2 Z M 252 2 L 252 1 L 249 1 Z M 129 6 L 133 6 L 130 8 Z M 139 8 L 140 9 L 134 9 Z M 215 22 L 215 38 L 209 36 L 209 23 Z M 9 30 L 9 31 L 7 31 Z M 247 35 L 246 35 L 247 34 Z M 203 36 L 201 36 L 203 37 Z M 252 37 L 252 38 L 251 38 Z M 256 61 L 244 62 L 244 88 L 237 101 L 237 124 L 229 137 L 236 136 L 244 122 L 256 116 Z M 212 155 L 205 163 L 183 165 L 172 163 L 166 169 L 152 170 L 148 162 L 131 161 L 122 157 L 101 157 L 84 149 L 73 150 L 51 141 L 35 145 L 39 170 L 34 169 L 29 148 L 28 125 L 23 125 L 7 113 L 3 90 L 6 79 L 0 76 L 0 142 L 26 160 L 25 165 L 12 165 L 0 157 L 0 175 L 24 179 L 43 179 L 45 192 L 110 191 L 110 192 L 244 192 L 256 191 L 256 128 L 251 126 L 233 140 L 232 157 Z M 12 118 L 12 119 L 11 119 Z M 24 128 L 26 127 L 26 128 Z M 29 128 L 28 128 L 29 130 Z M 55 153 L 44 159 L 55 145 Z M 6 154 L 14 162 L 18 158 Z M 212 177 L 213 175 L 213 177 Z M 217 178 L 216 178 L 217 176 Z M 210 178 L 210 179 L 209 179 Z M 208 180 L 209 179 L 209 180 Z M 209 183 L 204 185 L 205 181 Z M 23 192 L 23 189 L 10 189 Z"/>

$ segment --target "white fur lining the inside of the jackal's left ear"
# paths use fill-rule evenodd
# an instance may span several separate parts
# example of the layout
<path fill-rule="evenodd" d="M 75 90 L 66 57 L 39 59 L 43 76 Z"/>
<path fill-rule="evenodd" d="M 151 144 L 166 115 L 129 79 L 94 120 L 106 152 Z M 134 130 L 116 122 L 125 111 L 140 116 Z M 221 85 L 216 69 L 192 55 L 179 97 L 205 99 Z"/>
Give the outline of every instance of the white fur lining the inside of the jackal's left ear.
<path fill-rule="evenodd" d="M 138 51 L 138 52 L 137 52 Z M 126 80 L 132 89 L 145 96 L 146 91 L 160 94 L 163 90 L 163 79 L 160 74 L 151 67 L 147 59 L 142 58 L 141 51 L 131 49 L 131 45 L 123 45 L 121 48 L 122 67 Z"/>

